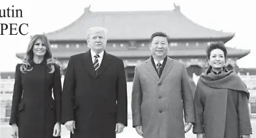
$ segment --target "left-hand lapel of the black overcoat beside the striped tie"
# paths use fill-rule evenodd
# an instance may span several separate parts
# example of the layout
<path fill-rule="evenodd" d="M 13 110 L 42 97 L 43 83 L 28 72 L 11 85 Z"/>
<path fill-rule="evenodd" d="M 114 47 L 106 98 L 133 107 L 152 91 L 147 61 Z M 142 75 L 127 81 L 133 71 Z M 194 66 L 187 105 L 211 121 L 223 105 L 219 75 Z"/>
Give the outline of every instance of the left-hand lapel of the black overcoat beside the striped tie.
<path fill-rule="evenodd" d="M 82 65 L 84 66 L 84 68 L 86 68 L 86 70 L 89 72 L 91 77 L 94 77 L 95 72 L 94 72 L 94 68 L 93 68 L 93 61 L 91 59 L 90 50 L 83 54 L 81 60 L 82 60 Z"/>

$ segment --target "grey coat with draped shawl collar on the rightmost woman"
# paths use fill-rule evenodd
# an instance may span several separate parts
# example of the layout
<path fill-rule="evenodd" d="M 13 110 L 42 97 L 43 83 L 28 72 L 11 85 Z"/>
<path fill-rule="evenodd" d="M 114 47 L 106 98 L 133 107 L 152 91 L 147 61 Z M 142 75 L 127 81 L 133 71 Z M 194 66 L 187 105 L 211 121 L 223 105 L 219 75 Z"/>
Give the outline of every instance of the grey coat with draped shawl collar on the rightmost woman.
<path fill-rule="evenodd" d="M 211 66 L 200 76 L 194 95 L 194 133 L 205 138 L 239 138 L 252 133 L 248 99 L 250 93 L 239 75 L 224 68 L 215 75 Z"/>

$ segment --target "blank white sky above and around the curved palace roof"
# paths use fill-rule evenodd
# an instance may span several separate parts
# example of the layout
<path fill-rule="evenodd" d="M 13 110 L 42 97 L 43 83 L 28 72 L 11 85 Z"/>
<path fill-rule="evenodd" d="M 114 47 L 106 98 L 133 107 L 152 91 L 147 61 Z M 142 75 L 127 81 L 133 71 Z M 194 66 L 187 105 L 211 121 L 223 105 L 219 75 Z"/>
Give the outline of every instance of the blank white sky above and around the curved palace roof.
<path fill-rule="evenodd" d="M 226 46 L 250 49 L 251 53 L 239 59 L 240 68 L 256 68 L 256 4 L 251 1 L 231 0 L 0 0 L 0 9 L 8 7 L 23 10 L 23 18 L 0 18 L 0 23 L 29 23 L 29 34 L 0 35 L 0 72 L 14 71 L 19 60 L 15 54 L 25 52 L 30 35 L 53 32 L 69 25 L 83 14 L 84 8 L 91 5 L 91 11 L 145 11 L 173 10 L 180 5 L 181 12 L 199 25 L 224 32 L 235 32 L 235 37 Z M 86 32 L 85 32 L 86 34 Z M 150 37 L 150 36 L 148 36 Z"/>

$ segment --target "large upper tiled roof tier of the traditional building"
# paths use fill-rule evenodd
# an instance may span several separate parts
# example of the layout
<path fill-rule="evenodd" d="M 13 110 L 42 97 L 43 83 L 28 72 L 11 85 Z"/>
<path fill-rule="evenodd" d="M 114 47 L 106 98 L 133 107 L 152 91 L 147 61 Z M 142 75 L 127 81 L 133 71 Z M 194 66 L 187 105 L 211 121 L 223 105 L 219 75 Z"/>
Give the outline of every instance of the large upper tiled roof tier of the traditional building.
<path fill-rule="evenodd" d="M 76 21 L 60 30 L 45 34 L 50 41 L 84 41 L 93 26 L 108 29 L 108 39 L 149 39 L 154 32 L 165 32 L 170 39 L 218 39 L 227 42 L 234 33 L 211 30 L 193 23 L 180 7 L 166 11 L 91 12 L 85 9 Z"/>

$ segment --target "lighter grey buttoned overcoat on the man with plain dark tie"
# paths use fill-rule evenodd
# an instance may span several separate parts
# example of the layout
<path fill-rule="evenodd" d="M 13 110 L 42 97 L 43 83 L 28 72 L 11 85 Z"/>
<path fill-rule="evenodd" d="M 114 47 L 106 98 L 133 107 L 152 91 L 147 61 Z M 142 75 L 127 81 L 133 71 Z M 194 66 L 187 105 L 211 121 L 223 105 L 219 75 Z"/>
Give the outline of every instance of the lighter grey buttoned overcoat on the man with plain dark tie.
<path fill-rule="evenodd" d="M 143 137 L 185 137 L 183 117 L 185 122 L 194 123 L 192 90 L 185 65 L 167 57 L 160 78 L 151 59 L 136 66 L 132 117 L 134 127 L 142 125 Z"/>

